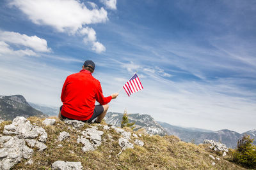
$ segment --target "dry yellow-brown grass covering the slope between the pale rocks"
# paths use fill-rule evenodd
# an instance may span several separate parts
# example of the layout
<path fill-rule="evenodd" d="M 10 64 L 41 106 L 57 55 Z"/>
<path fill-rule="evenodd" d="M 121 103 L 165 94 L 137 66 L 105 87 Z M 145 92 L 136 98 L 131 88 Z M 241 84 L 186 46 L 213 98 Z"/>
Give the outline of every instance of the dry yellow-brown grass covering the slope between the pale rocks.
<path fill-rule="evenodd" d="M 29 120 L 43 127 L 47 132 L 47 149 L 44 152 L 34 153 L 32 157 L 34 164 L 26 165 L 28 160 L 22 160 L 13 169 L 51 169 L 51 164 L 56 160 L 79 161 L 84 169 L 244 169 L 229 162 L 229 156 L 223 159 L 217 153 L 207 150 L 206 145 L 185 143 L 175 136 L 149 136 L 142 133 L 140 140 L 145 143 L 144 146 L 134 145 L 134 149 L 124 150 L 118 155 L 121 151 L 118 145 L 120 134 L 113 129 L 104 131 L 102 145 L 97 150 L 83 153 L 81 150 L 83 145 L 76 142 L 80 135 L 77 129 L 65 125 L 58 119 L 55 125 L 46 127 L 42 124 L 44 119 L 31 117 Z M 0 125 L 0 132 L 6 124 L 10 122 L 3 122 Z M 106 123 L 102 122 L 102 124 Z M 81 130 L 90 126 L 85 124 Z M 102 127 L 99 129 L 103 131 Z M 70 138 L 60 142 L 58 136 L 63 131 L 70 133 Z M 132 132 L 131 129 L 125 131 Z M 134 139 L 132 136 L 131 141 Z M 60 144 L 63 147 L 59 147 Z M 220 157 L 221 160 L 214 160 L 216 165 L 212 166 L 209 154 Z"/>

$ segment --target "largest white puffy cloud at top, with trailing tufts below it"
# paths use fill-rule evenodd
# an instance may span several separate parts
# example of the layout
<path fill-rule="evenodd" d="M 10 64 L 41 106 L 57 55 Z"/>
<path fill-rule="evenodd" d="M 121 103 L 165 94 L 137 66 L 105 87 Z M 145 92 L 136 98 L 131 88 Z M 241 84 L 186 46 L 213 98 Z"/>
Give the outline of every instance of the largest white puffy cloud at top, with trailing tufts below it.
<path fill-rule="evenodd" d="M 113 2 L 108 3 L 113 4 Z M 89 2 L 92 10 L 84 3 L 76 0 L 11 0 L 11 6 L 16 6 L 28 18 L 38 25 L 49 25 L 56 31 L 76 34 L 85 34 L 85 43 L 92 42 L 92 50 L 97 53 L 104 52 L 106 48 L 96 42 L 96 32 L 85 27 L 88 24 L 97 24 L 108 20 L 108 12 L 104 8 L 97 8 L 95 3 Z M 87 31 L 87 32 L 86 32 Z"/>

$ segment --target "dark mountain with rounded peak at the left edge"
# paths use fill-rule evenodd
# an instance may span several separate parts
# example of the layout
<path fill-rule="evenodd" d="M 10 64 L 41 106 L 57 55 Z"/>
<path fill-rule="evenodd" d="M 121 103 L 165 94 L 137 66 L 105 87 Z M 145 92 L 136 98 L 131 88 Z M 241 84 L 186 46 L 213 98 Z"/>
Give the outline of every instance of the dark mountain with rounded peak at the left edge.
<path fill-rule="evenodd" d="M 32 108 L 21 95 L 0 96 L 0 118 L 3 120 L 13 120 L 17 116 L 45 117 L 47 115 Z"/>

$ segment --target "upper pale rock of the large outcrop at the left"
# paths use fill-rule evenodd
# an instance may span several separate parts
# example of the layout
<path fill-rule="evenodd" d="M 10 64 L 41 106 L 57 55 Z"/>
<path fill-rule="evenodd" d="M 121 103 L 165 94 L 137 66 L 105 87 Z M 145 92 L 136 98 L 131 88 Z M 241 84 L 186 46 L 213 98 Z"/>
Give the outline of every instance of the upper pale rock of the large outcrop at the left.
<path fill-rule="evenodd" d="M 47 133 L 42 127 L 31 125 L 30 121 L 24 117 L 16 117 L 12 124 L 5 125 L 3 134 L 15 134 L 19 138 L 35 139 L 38 136 L 39 141 L 46 142 Z"/>

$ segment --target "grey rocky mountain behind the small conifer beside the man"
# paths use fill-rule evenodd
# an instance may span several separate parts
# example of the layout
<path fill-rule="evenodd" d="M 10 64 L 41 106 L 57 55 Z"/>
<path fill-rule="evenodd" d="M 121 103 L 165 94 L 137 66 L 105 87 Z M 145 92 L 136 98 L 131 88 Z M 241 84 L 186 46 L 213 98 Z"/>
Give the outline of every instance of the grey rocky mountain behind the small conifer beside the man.
<path fill-rule="evenodd" d="M 121 126 L 123 113 L 113 113 L 109 112 L 105 116 L 105 121 L 107 124 L 115 125 L 116 127 Z M 149 134 L 158 134 L 160 136 L 164 136 L 168 134 L 168 132 L 159 125 L 154 118 L 150 115 L 141 115 L 139 113 L 136 114 L 128 114 L 129 122 L 135 122 L 134 131 L 138 131 L 143 127 Z"/>

